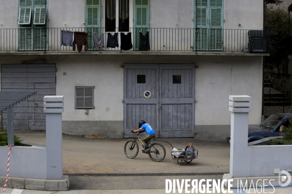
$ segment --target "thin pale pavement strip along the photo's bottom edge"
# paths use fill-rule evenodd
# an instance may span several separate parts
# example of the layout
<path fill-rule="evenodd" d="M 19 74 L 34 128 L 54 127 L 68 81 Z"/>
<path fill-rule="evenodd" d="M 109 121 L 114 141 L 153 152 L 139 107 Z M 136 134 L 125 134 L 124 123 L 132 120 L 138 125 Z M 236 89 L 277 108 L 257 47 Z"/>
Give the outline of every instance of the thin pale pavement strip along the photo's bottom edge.
<path fill-rule="evenodd" d="M 0 187 L 0 192 L 2 192 L 3 188 Z M 188 191 L 191 191 L 189 189 Z M 171 191 L 171 194 L 173 191 Z M 180 192 L 176 190 L 176 194 Z M 265 191 L 258 188 L 258 191 L 255 193 L 254 190 L 237 191 L 237 189 L 232 190 L 233 194 L 263 194 L 263 193 L 273 193 L 273 194 L 292 194 L 292 187 L 275 187 L 273 188 L 265 188 Z M 18 189 L 5 189 L 5 194 L 165 194 L 165 189 L 131 189 L 131 190 L 71 190 L 71 191 L 60 191 L 60 192 L 50 192 L 50 191 L 33 191 L 33 190 L 18 190 Z M 186 194 L 183 189 L 182 194 Z M 223 194 L 214 193 L 214 194 Z"/>

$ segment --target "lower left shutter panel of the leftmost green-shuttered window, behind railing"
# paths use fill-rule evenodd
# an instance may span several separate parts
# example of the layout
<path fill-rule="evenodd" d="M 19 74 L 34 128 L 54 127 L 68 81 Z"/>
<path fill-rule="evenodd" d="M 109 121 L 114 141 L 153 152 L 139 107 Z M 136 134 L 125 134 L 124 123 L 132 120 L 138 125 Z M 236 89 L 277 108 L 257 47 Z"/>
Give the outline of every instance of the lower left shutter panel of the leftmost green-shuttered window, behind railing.
<path fill-rule="evenodd" d="M 18 50 L 32 50 L 32 29 L 19 29 Z"/>

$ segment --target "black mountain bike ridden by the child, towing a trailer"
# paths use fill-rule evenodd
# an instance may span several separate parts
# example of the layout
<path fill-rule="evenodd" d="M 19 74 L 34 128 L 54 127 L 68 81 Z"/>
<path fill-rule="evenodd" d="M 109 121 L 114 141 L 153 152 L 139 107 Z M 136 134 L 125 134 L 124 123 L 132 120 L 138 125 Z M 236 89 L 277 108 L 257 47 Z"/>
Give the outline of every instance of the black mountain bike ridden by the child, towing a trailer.
<path fill-rule="evenodd" d="M 125 155 L 128 158 L 133 159 L 138 155 L 139 146 L 137 144 L 137 140 L 139 140 L 139 142 L 140 142 L 142 137 L 139 136 L 139 133 L 143 133 L 143 132 L 145 132 L 145 130 L 141 130 L 139 132 L 135 132 L 136 134 L 135 134 L 134 140 L 129 140 L 128 142 L 126 142 L 125 147 L 124 147 L 124 151 L 125 151 Z M 143 148 L 144 148 L 144 150 L 142 150 L 142 152 L 145 153 L 145 154 L 148 154 L 149 158 L 152 161 L 161 162 L 161 161 L 163 161 L 163 159 L 165 157 L 165 154 L 166 154 L 165 148 L 164 148 L 164 146 L 162 144 L 159 144 L 159 143 L 151 144 L 150 143 L 151 139 L 148 141 L 148 146 L 150 147 L 150 150 L 145 152 L 145 146 L 143 146 L 141 144 L 143 146 Z"/>

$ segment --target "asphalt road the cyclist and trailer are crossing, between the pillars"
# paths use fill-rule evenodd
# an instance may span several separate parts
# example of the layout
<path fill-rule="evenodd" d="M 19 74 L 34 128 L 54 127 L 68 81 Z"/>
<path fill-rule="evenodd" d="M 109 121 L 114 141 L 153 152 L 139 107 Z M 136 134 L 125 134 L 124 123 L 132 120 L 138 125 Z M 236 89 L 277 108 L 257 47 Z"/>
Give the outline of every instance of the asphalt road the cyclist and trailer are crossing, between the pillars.
<path fill-rule="evenodd" d="M 45 145 L 45 132 L 15 131 L 23 141 Z M 171 157 L 171 146 L 164 142 L 166 150 L 162 162 L 153 162 L 147 154 L 139 153 L 135 159 L 124 154 L 129 139 L 88 139 L 63 134 L 64 173 L 223 173 L 229 172 L 230 146 L 227 143 L 208 142 L 194 138 L 159 139 L 168 141 L 176 148 L 185 148 L 188 142 L 199 150 L 198 158 L 184 166 Z M 210 176 L 140 176 L 140 177 L 70 177 L 70 189 L 165 189 L 165 179 L 221 179 L 222 175 Z"/>

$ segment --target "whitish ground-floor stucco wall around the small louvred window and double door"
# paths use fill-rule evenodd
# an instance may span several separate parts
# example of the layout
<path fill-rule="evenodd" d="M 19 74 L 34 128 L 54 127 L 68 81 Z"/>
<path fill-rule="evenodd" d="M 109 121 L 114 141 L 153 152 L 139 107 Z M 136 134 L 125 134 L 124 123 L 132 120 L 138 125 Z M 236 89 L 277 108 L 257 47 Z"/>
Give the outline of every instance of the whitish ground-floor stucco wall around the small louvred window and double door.
<path fill-rule="evenodd" d="M 39 59 L 39 60 L 37 60 Z M 262 105 L 262 57 L 55 55 L 0 57 L 0 64 L 23 61 L 56 64 L 56 95 L 64 95 L 63 120 L 123 121 L 124 63 L 195 63 L 195 125 L 230 125 L 229 95 L 252 97 L 249 124 L 259 124 Z M 43 61 L 42 61 L 43 62 Z M 67 75 L 63 75 L 66 72 Z M 95 86 L 94 110 L 74 109 L 75 86 Z"/>

